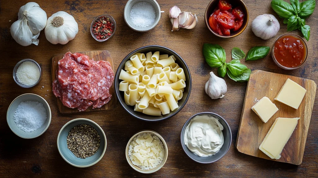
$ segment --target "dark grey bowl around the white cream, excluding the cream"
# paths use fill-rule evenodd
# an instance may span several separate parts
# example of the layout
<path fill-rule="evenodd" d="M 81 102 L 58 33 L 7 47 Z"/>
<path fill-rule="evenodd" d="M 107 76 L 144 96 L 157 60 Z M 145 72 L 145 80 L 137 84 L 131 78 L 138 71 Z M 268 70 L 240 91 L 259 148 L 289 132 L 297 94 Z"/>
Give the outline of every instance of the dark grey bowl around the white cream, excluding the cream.
<path fill-rule="evenodd" d="M 224 129 L 222 130 L 223 137 L 224 137 L 224 144 L 223 144 L 222 148 L 218 151 L 218 153 L 215 155 L 212 155 L 209 157 L 200 157 L 198 155 L 195 155 L 193 152 L 191 152 L 188 149 L 188 147 L 184 144 L 185 128 L 190 123 L 190 120 L 193 119 L 197 115 L 211 115 L 211 116 L 217 118 L 218 121 L 224 127 Z M 216 161 L 220 160 L 227 153 L 227 151 L 229 151 L 230 146 L 231 146 L 231 142 L 232 142 L 232 132 L 231 132 L 231 128 L 230 128 L 229 124 L 225 121 L 225 119 L 223 117 L 221 117 L 220 115 L 217 115 L 215 113 L 211 113 L 211 112 L 202 112 L 202 113 L 197 113 L 197 114 L 193 115 L 192 117 L 190 117 L 190 119 L 188 119 L 184 123 L 183 128 L 181 130 L 180 139 L 181 139 L 181 145 L 182 145 L 182 148 L 183 148 L 185 154 L 187 154 L 192 160 L 194 160 L 196 162 L 206 164 L 206 163 L 212 163 L 212 162 L 216 162 Z"/>

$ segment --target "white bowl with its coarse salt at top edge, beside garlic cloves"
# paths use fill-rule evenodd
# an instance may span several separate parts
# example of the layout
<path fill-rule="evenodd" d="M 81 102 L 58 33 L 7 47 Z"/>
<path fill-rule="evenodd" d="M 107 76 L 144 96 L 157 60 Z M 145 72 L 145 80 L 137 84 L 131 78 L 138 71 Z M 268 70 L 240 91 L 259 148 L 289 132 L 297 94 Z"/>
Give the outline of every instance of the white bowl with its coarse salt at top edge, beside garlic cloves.
<path fill-rule="evenodd" d="M 138 32 L 155 28 L 160 16 L 160 6 L 156 0 L 128 0 L 124 10 L 125 22 Z"/>

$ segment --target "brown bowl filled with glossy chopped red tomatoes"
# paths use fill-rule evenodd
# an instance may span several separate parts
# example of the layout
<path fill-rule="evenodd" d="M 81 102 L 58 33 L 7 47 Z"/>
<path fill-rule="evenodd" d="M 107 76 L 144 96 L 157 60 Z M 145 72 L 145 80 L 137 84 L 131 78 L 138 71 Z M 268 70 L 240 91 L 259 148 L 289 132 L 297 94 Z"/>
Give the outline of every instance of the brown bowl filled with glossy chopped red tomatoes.
<path fill-rule="evenodd" d="M 248 10 L 242 0 L 212 0 L 205 10 L 208 29 L 220 38 L 241 34 L 248 23 Z"/>

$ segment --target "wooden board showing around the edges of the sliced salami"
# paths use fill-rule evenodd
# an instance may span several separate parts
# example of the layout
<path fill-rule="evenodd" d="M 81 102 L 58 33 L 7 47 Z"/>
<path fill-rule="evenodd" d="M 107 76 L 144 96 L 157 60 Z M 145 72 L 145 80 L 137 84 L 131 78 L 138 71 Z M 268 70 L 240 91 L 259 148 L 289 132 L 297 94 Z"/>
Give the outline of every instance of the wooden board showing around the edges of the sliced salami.
<path fill-rule="evenodd" d="M 79 52 L 79 53 L 87 55 L 90 59 L 93 58 L 94 61 L 100 61 L 100 60 L 108 61 L 110 63 L 110 65 L 112 66 L 112 69 L 114 71 L 113 59 L 112 59 L 112 56 L 110 55 L 109 51 L 107 51 L 107 50 L 85 51 L 85 52 Z M 58 62 L 63 57 L 64 57 L 64 54 L 59 54 L 59 55 L 52 57 L 52 69 L 51 69 L 52 82 L 56 79 L 55 71 L 56 71 L 56 69 L 59 68 Z M 107 104 L 105 104 L 101 108 L 96 108 L 96 109 L 92 109 L 92 106 L 90 106 L 88 109 L 86 109 L 86 111 L 81 111 L 81 112 L 114 109 L 116 107 L 116 99 L 115 99 L 116 97 L 115 97 L 115 93 L 114 93 L 114 84 L 110 87 L 109 93 L 112 95 L 112 99 Z M 56 100 L 57 100 L 57 104 L 59 107 L 59 111 L 61 113 L 77 113 L 77 112 L 79 112 L 79 110 L 77 108 L 72 109 L 72 108 L 68 108 L 68 107 L 64 106 L 59 98 L 56 98 Z"/>

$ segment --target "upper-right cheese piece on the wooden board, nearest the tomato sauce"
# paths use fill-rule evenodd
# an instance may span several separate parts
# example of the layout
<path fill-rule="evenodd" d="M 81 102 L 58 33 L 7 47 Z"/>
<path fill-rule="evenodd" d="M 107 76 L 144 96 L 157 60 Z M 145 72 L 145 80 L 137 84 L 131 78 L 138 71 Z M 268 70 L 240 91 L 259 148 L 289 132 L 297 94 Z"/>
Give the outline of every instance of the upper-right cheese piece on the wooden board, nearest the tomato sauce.
<path fill-rule="evenodd" d="M 294 109 L 298 109 L 302 99 L 306 94 L 306 89 L 302 88 L 298 83 L 286 80 L 275 100 L 284 103 Z"/>

